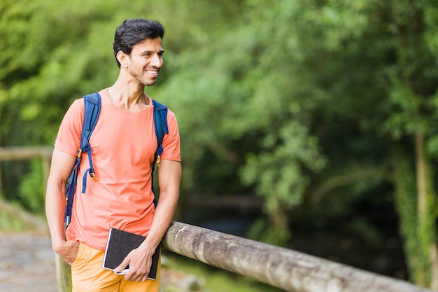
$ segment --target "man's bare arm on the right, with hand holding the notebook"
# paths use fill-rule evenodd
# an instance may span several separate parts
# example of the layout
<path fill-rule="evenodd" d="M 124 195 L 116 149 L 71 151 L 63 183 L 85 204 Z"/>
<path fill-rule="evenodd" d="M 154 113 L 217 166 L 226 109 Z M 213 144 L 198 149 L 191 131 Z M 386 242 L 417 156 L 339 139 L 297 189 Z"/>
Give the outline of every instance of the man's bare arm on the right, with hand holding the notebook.
<path fill-rule="evenodd" d="M 181 183 L 181 162 L 162 160 L 158 167 L 158 185 L 160 199 L 155 209 L 153 223 L 150 226 L 148 237 L 123 260 L 115 271 L 123 270 L 129 265 L 129 272 L 125 279 L 132 281 L 146 281 L 148 278 L 152 255 L 162 241 L 164 234 L 171 224 L 178 205 L 179 188 Z"/>

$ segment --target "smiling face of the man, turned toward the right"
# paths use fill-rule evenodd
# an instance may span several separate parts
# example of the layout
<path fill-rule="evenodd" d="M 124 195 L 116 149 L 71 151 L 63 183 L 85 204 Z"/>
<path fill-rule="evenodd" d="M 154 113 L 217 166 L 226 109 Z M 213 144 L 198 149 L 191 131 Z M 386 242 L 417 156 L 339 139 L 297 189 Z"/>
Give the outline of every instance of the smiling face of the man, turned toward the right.
<path fill-rule="evenodd" d="M 162 39 L 146 39 L 132 47 L 129 55 L 129 74 L 139 83 L 151 86 L 157 81 L 163 66 Z"/>

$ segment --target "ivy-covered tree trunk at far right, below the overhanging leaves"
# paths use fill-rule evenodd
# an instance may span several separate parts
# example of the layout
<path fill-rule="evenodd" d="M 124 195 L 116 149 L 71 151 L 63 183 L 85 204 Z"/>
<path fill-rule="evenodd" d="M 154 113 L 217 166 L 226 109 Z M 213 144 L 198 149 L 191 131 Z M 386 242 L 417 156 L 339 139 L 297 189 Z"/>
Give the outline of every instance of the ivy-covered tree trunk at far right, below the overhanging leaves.
<path fill-rule="evenodd" d="M 416 134 L 415 158 L 401 144 L 393 146 L 395 209 L 400 218 L 400 235 L 411 281 L 436 290 L 436 200 L 423 144 L 422 135 Z"/>

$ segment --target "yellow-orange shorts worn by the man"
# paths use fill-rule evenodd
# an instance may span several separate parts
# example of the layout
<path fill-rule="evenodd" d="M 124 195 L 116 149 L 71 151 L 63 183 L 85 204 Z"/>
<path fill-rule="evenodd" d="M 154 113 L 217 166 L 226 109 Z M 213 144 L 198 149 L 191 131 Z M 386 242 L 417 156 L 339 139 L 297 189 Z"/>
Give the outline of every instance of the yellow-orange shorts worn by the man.
<path fill-rule="evenodd" d="M 124 275 L 102 269 L 104 251 L 93 249 L 83 242 L 78 256 L 71 265 L 73 292 L 158 292 L 160 288 L 160 262 L 157 279 L 145 282 L 127 281 Z"/>

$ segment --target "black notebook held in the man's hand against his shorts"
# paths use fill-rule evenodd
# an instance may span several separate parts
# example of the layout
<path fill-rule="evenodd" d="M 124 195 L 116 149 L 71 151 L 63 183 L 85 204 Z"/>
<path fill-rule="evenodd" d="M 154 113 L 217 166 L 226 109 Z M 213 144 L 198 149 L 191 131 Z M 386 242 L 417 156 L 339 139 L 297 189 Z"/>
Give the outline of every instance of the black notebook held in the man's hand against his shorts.
<path fill-rule="evenodd" d="M 141 235 L 110 228 L 102 267 L 107 270 L 114 270 L 122 263 L 129 252 L 140 246 L 144 239 L 146 239 L 146 237 Z M 152 266 L 150 267 L 148 279 L 155 280 L 157 277 L 159 257 L 160 245 L 157 246 L 157 249 L 152 256 Z M 129 268 L 129 266 L 126 268 Z"/>

